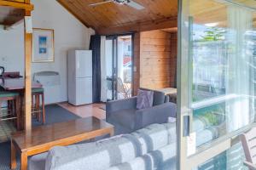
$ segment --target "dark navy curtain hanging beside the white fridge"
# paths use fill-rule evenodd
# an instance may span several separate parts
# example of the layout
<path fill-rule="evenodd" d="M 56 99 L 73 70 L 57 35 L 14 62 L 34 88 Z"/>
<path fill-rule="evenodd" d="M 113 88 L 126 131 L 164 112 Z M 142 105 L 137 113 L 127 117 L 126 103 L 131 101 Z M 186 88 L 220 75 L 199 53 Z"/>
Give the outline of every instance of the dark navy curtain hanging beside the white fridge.
<path fill-rule="evenodd" d="M 90 36 L 92 50 L 92 101 L 101 101 L 101 36 Z"/>

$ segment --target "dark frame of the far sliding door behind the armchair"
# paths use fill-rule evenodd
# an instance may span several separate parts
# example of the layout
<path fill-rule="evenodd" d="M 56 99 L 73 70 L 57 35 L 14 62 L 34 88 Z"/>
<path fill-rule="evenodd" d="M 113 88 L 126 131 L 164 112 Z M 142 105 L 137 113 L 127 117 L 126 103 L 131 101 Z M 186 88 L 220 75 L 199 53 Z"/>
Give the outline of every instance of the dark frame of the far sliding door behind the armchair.
<path fill-rule="evenodd" d="M 112 100 L 118 99 L 117 93 L 117 74 L 118 74 L 118 37 L 131 36 L 131 94 L 133 94 L 134 87 L 134 32 L 128 32 L 124 34 L 114 34 L 106 37 L 107 40 L 112 40 Z"/>

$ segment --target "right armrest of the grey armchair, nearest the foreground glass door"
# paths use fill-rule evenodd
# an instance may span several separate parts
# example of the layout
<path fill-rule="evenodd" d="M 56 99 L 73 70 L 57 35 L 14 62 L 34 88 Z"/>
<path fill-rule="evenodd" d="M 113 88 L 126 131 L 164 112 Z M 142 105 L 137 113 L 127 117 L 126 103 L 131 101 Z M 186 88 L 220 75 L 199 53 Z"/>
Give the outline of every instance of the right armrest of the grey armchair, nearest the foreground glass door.
<path fill-rule="evenodd" d="M 166 123 L 168 117 L 176 117 L 177 105 L 171 102 L 136 111 L 136 130 L 153 123 Z"/>

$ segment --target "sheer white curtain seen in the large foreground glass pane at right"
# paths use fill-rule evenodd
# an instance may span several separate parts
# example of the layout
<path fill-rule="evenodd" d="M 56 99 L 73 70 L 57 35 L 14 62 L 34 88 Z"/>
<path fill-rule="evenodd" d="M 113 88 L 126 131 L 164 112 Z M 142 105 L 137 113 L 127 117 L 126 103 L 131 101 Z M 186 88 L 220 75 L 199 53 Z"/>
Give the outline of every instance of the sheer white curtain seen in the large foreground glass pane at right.
<path fill-rule="evenodd" d="M 237 6 L 228 7 L 228 58 L 225 78 L 226 94 L 236 99 L 226 103 L 227 130 L 235 131 L 254 119 L 253 51 L 248 48 L 248 35 L 253 28 L 253 12 Z"/>

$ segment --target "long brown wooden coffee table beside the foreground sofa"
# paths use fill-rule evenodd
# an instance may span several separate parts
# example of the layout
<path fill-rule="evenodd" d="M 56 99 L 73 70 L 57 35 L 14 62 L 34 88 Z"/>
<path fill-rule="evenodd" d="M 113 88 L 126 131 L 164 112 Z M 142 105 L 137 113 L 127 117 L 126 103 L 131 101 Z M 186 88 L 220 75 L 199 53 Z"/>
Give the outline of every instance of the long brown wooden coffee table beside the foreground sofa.
<path fill-rule="evenodd" d="M 11 169 L 17 166 L 16 151 L 21 155 L 21 170 L 26 170 L 27 156 L 46 152 L 56 145 L 75 144 L 104 134 L 113 136 L 113 125 L 96 117 L 34 127 L 29 132 L 15 133 L 11 139 Z"/>

